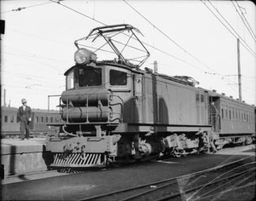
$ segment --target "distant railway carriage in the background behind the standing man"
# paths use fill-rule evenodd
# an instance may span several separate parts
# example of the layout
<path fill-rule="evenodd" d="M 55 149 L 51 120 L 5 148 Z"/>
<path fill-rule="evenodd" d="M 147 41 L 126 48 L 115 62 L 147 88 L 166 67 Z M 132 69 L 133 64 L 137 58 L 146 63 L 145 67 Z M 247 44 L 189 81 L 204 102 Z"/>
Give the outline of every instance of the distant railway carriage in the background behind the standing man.
<path fill-rule="evenodd" d="M 2 106 L 1 108 L 1 136 L 2 137 L 17 137 L 20 134 L 20 122 L 17 118 L 18 108 Z M 32 135 L 48 134 L 55 132 L 55 127 L 48 126 L 47 123 L 59 123 L 61 117 L 59 112 L 32 109 L 32 121 L 30 129 Z"/>

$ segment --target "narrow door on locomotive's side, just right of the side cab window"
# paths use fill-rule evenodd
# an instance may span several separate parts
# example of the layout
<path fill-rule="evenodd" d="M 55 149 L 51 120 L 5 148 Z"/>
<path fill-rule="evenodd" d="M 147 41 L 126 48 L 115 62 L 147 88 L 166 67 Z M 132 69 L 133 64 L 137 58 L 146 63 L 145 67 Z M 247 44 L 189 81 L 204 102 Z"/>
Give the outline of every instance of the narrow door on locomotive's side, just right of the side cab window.
<path fill-rule="evenodd" d="M 134 75 L 134 122 L 142 123 L 143 121 L 143 76 L 141 74 Z"/>

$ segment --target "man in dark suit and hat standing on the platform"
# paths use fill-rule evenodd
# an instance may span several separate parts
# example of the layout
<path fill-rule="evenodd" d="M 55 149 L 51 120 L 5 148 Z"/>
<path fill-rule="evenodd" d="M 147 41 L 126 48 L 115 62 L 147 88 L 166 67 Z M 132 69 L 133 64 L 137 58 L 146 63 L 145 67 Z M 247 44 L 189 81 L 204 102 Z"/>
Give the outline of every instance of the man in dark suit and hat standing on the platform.
<path fill-rule="evenodd" d="M 24 141 L 24 131 L 26 130 L 26 139 L 29 140 L 29 123 L 32 120 L 32 111 L 30 106 L 26 106 L 26 99 L 22 99 L 21 103 L 23 106 L 20 106 L 17 117 L 20 121 L 20 138 L 21 141 Z"/>

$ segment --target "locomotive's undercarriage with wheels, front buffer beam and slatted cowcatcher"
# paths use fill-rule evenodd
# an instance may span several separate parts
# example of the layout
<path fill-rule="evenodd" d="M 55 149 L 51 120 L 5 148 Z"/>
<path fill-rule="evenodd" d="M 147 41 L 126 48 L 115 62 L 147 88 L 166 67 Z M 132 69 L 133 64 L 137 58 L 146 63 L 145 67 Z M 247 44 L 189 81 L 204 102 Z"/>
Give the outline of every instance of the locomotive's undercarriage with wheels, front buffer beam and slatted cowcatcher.
<path fill-rule="evenodd" d="M 209 144 L 200 143 L 195 132 L 112 133 L 116 124 L 62 125 L 58 136 L 49 136 L 47 150 L 53 153 L 53 168 L 105 167 L 127 164 L 159 157 L 186 156 L 207 152 Z M 77 130 L 71 133 L 71 130 Z"/>

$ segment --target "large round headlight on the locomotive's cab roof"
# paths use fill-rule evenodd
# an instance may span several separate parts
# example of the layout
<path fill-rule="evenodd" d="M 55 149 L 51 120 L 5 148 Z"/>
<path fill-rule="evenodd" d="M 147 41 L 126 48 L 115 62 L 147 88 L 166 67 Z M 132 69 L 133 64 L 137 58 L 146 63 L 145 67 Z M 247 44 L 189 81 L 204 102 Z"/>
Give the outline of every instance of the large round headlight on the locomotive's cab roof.
<path fill-rule="evenodd" d="M 90 61 L 96 61 L 96 54 L 88 49 L 79 49 L 74 54 L 74 60 L 77 64 L 88 64 Z"/>

